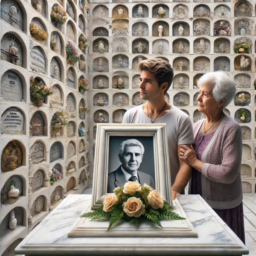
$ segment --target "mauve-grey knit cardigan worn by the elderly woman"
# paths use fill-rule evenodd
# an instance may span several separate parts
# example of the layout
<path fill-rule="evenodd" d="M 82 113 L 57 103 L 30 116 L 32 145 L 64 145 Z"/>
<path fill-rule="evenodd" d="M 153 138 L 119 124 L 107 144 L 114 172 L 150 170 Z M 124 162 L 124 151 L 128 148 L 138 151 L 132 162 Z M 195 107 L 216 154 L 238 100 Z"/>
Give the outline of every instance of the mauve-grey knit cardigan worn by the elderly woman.
<path fill-rule="evenodd" d="M 196 138 L 205 119 L 194 125 Z M 204 150 L 201 175 L 202 197 L 214 209 L 231 209 L 243 199 L 240 165 L 242 132 L 236 120 L 225 116 Z M 191 178 L 189 194 L 191 193 Z"/>

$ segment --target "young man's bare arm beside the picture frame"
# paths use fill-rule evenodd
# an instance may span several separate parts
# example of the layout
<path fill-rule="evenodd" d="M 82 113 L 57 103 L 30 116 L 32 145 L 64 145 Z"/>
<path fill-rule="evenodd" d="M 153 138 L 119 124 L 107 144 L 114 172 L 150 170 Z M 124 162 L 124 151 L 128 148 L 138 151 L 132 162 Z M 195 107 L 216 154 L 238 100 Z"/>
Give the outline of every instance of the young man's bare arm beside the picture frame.
<path fill-rule="evenodd" d="M 191 144 L 186 144 L 189 148 Z M 177 152 L 179 154 L 181 145 L 177 145 Z M 176 194 L 180 193 L 187 185 L 189 182 L 190 176 L 192 174 L 192 168 L 189 166 L 187 163 L 185 163 L 183 160 L 179 158 L 180 162 L 180 169 L 179 172 L 177 173 L 177 176 L 175 178 L 175 182 L 172 186 L 172 200 L 175 199 Z"/>

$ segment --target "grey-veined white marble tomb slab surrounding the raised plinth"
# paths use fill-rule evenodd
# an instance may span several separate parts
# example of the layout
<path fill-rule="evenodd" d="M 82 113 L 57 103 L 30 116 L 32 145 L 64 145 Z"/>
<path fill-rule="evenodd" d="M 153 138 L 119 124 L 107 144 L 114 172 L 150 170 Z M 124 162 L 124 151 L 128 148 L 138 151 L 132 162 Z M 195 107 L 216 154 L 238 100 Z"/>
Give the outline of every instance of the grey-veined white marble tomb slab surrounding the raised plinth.
<path fill-rule="evenodd" d="M 44 255 L 244 255 L 247 247 L 199 195 L 178 198 L 198 237 L 68 238 L 91 195 L 68 195 L 15 249 L 16 254 Z"/>

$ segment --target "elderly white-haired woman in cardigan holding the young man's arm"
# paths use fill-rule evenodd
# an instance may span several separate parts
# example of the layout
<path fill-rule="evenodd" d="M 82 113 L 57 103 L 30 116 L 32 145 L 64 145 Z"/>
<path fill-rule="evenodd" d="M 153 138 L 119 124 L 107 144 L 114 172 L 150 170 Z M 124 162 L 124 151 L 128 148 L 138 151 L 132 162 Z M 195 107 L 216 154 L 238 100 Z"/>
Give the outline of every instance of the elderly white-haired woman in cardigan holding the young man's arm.
<path fill-rule="evenodd" d="M 194 125 L 194 148 L 182 145 L 181 160 L 192 166 L 189 194 L 199 194 L 245 242 L 240 165 L 242 133 L 236 120 L 224 114 L 236 94 L 227 73 L 204 74 L 199 79 L 198 111 L 206 115 Z"/>

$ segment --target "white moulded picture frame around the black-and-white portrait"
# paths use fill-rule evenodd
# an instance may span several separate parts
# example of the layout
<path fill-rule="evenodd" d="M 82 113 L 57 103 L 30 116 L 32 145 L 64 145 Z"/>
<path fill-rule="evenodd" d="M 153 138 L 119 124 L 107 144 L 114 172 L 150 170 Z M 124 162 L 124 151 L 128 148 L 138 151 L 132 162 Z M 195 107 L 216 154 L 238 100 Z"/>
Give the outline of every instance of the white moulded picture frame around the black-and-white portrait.
<path fill-rule="evenodd" d="M 99 209 L 108 195 L 109 143 L 112 136 L 153 138 L 155 189 L 172 205 L 172 183 L 166 124 L 101 123 L 97 124 L 96 132 L 91 209 Z"/>

